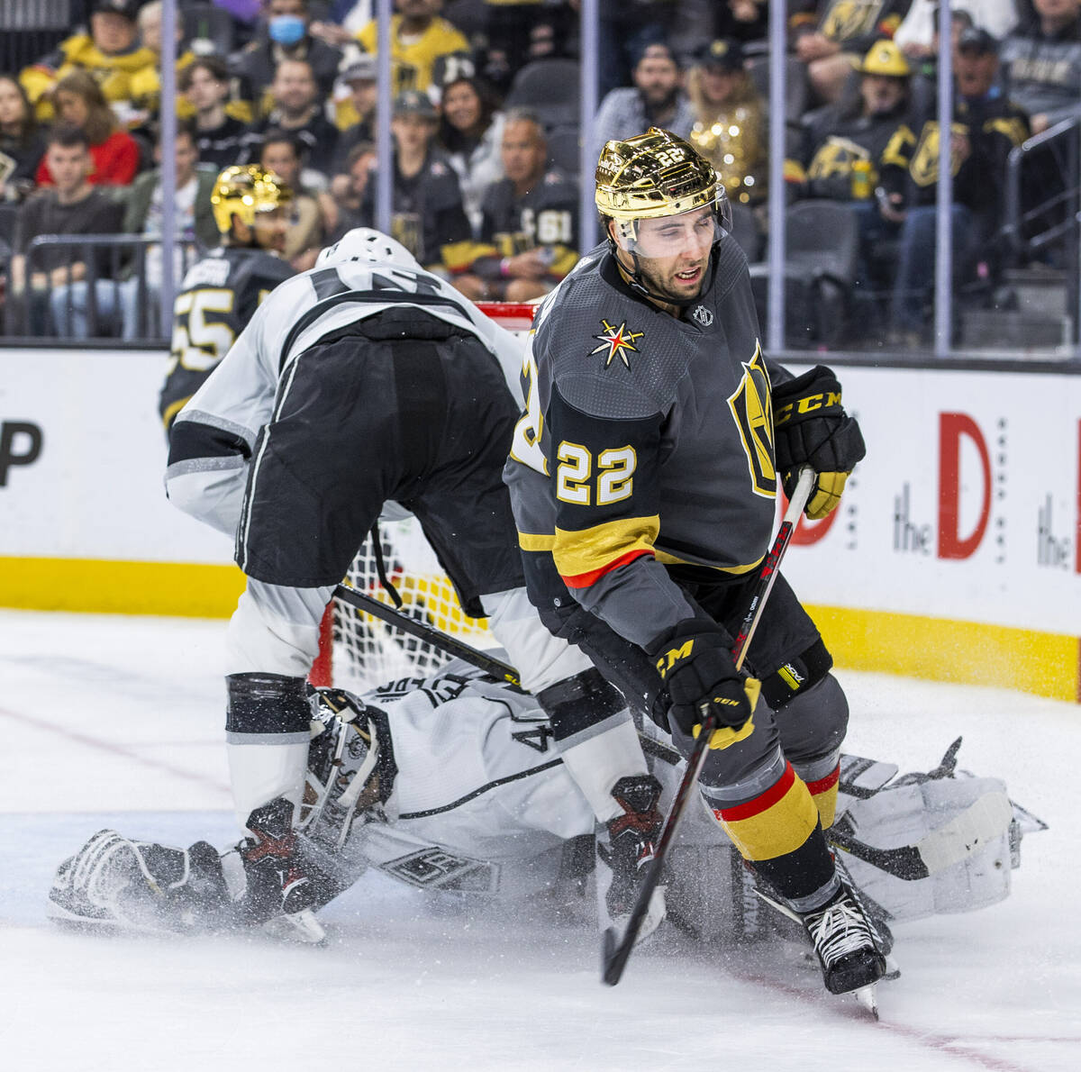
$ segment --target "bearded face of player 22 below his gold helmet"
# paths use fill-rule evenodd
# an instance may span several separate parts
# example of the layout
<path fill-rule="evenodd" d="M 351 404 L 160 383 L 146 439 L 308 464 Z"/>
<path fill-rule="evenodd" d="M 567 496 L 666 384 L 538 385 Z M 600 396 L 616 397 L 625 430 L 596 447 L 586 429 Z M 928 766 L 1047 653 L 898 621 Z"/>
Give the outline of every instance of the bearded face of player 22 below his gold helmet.
<path fill-rule="evenodd" d="M 678 216 L 640 219 L 637 234 L 617 237 L 617 243 L 637 256 L 642 282 L 651 293 L 685 302 L 702 291 L 719 227 L 716 210 L 693 209 Z"/>

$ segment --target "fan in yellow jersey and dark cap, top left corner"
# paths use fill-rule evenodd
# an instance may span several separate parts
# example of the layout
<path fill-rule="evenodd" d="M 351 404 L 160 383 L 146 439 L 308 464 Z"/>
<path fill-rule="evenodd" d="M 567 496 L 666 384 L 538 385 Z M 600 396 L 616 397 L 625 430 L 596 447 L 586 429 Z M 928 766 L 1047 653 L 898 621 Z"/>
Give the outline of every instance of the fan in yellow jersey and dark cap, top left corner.
<path fill-rule="evenodd" d="M 39 119 L 52 118 L 50 91 L 74 70 L 90 71 L 109 104 L 132 99 L 132 78 L 157 61 L 138 42 L 138 8 L 137 0 L 94 0 L 89 34 L 66 38 L 54 52 L 23 70 L 18 80 Z"/>

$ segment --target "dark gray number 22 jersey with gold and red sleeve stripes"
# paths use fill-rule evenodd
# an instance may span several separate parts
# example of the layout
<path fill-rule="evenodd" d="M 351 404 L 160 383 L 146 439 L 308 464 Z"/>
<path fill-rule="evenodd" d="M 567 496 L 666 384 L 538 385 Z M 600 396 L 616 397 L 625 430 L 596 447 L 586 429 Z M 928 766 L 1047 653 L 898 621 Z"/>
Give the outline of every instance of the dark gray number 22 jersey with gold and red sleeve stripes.
<path fill-rule="evenodd" d="M 735 242 L 707 279 L 677 319 L 606 247 L 583 258 L 537 312 L 505 471 L 522 548 L 643 647 L 695 613 L 669 570 L 746 573 L 773 527 L 771 378 L 789 374 L 762 354 Z"/>

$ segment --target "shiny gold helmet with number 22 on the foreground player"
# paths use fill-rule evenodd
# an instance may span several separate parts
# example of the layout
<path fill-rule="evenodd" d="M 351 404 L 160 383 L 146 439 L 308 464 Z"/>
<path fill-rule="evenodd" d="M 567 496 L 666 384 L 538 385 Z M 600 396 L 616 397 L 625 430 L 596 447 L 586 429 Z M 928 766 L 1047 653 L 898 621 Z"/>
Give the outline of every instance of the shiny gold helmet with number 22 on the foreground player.
<path fill-rule="evenodd" d="M 712 164 L 694 146 L 651 126 L 626 142 L 604 144 L 595 199 L 602 215 L 629 222 L 713 205 L 717 187 Z"/>

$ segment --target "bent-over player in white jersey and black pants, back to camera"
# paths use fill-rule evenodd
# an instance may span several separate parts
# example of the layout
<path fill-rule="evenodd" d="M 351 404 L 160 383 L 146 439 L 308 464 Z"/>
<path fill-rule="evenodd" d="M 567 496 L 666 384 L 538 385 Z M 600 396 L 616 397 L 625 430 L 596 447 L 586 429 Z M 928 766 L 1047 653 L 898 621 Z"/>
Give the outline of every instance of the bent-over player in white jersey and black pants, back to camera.
<path fill-rule="evenodd" d="M 489 618 L 546 710 L 587 708 L 562 749 L 625 881 L 659 826 L 622 697 L 525 597 L 501 473 L 521 345 L 397 242 L 350 231 L 282 283 L 174 421 L 166 488 L 236 537 L 248 587 L 228 629 L 226 740 L 254 859 L 298 926 L 311 883 L 292 830 L 308 750 L 319 622 L 385 504 L 413 512 L 466 615 Z M 520 398 L 520 396 L 519 396 Z"/>

